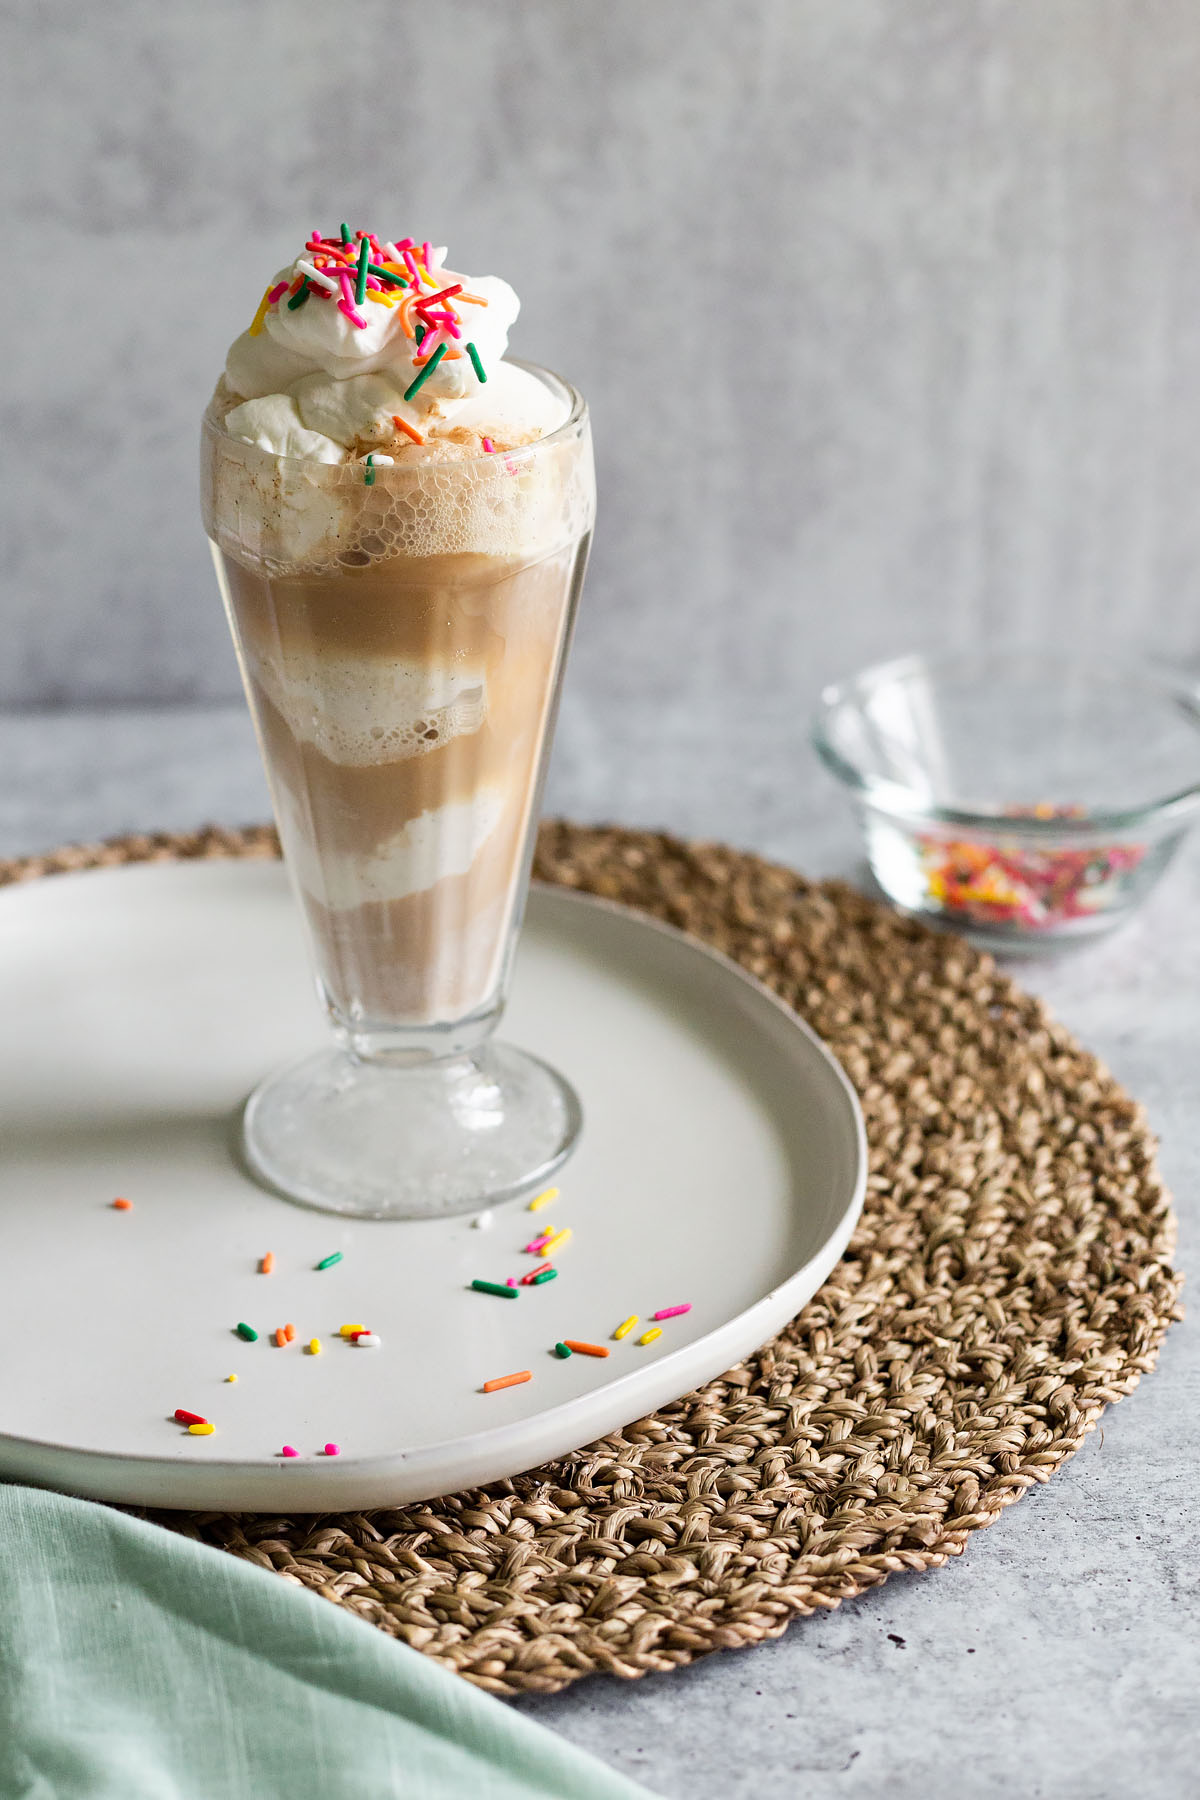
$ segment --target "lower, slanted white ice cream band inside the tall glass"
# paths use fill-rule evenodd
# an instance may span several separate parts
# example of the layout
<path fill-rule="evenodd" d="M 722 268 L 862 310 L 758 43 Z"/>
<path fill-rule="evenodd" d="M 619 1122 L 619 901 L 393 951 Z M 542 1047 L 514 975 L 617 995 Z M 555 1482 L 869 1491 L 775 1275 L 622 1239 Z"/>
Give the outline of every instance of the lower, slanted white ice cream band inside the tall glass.
<path fill-rule="evenodd" d="M 417 814 L 387 842 L 360 855 L 317 857 L 308 833 L 293 830 L 286 833 L 288 860 L 300 887 L 331 913 L 405 900 L 466 875 L 500 823 L 504 803 L 504 788 L 482 787 L 471 799 Z"/>

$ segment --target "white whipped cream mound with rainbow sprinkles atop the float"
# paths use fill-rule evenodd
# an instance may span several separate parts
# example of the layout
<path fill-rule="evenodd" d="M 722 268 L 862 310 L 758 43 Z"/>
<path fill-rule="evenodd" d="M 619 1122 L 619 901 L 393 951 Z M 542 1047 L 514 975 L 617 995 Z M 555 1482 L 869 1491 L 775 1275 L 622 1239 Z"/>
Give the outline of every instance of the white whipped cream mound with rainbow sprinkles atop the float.
<path fill-rule="evenodd" d="M 417 446 L 452 434 L 464 455 L 470 437 L 511 446 L 561 425 L 556 396 L 502 362 L 513 288 L 444 263 L 444 248 L 408 238 L 313 236 L 230 346 L 225 430 L 273 455 L 342 463 L 383 446 L 417 461 Z"/>

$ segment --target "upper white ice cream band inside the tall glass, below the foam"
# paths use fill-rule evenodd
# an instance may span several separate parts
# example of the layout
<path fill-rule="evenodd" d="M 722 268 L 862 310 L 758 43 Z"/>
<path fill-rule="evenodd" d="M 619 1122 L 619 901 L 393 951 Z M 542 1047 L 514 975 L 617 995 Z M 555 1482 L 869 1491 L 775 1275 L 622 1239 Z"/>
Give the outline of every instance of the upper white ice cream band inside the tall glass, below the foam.
<path fill-rule="evenodd" d="M 347 769 L 423 756 L 488 716 L 488 673 L 468 662 L 259 655 L 254 677 L 293 738 Z"/>

